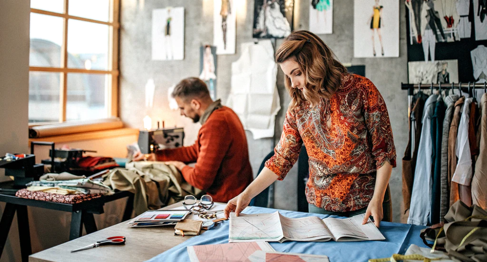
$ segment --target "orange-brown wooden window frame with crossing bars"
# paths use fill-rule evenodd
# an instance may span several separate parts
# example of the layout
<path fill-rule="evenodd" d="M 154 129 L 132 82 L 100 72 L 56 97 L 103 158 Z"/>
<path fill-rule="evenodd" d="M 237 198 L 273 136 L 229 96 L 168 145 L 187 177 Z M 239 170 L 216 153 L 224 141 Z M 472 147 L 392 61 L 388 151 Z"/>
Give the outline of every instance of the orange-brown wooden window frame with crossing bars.
<path fill-rule="evenodd" d="M 112 77 L 108 85 L 108 95 L 105 98 L 107 105 L 107 117 L 118 117 L 118 84 L 119 84 L 119 35 L 120 35 L 120 0 L 109 0 L 109 19 L 108 22 L 94 20 L 84 17 L 76 17 L 68 14 L 69 0 L 63 0 L 63 13 L 56 13 L 40 9 L 31 8 L 30 13 L 41 15 L 48 15 L 63 18 L 63 34 L 61 45 L 61 67 L 31 67 L 29 65 L 29 72 L 55 72 L 60 73 L 59 85 L 59 119 L 58 122 L 33 122 L 29 123 L 29 127 L 44 124 L 59 124 L 66 122 L 66 104 L 67 104 L 67 89 L 68 89 L 68 73 L 90 73 L 90 74 L 108 74 Z M 92 22 L 96 24 L 103 24 L 109 26 L 109 50 L 108 50 L 108 70 L 87 70 L 68 68 L 68 19 L 80 20 L 85 22 Z M 30 63 L 30 62 L 29 62 Z"/>

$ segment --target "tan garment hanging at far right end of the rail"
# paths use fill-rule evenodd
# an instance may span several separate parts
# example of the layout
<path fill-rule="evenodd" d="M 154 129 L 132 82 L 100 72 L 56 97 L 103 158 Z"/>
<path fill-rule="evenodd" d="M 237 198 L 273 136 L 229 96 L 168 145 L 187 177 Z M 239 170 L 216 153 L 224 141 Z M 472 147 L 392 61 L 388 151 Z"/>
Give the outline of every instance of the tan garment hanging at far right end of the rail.
<path fill-rule="evenodd" d="M 480 101 L 481 124 L 479 157 L 475 163 L 475 173 L 472 178 L 472 202 L 483 209 L 487 209 L 487 94 Z"/>

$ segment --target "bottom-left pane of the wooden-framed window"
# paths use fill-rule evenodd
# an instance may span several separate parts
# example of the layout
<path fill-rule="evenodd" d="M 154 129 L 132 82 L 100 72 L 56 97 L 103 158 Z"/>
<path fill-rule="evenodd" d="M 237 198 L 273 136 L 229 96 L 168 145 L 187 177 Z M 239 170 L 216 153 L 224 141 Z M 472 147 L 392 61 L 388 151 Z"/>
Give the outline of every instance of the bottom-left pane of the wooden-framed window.
<path fill-rule="evenodd" d="M 59 121 L 60 73 L 29 72 L 29 123 Z"/>

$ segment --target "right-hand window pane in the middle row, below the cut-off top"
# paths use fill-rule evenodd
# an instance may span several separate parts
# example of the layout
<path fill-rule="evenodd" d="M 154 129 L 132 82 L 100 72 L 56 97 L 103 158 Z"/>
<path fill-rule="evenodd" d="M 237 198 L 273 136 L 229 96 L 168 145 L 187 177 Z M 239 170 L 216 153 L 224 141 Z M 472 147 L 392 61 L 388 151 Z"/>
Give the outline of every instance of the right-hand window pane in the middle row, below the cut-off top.
<path fill-rule="evenodd" d="M 108 70 L 108 38 L 108 25 L 69 19 L 68 67 Z"/>

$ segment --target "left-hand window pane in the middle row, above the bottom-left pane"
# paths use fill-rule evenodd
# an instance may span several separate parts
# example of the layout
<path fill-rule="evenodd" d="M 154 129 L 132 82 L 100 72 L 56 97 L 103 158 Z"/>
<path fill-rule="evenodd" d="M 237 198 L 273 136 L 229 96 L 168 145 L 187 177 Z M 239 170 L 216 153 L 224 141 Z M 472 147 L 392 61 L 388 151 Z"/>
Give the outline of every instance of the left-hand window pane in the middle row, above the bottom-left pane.
<path fill-rule="evenodd" d="M 31 13 L 31 67 L 60 67 L 63 18 Z"/>

